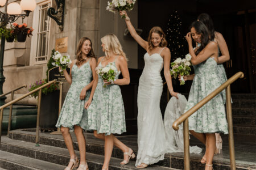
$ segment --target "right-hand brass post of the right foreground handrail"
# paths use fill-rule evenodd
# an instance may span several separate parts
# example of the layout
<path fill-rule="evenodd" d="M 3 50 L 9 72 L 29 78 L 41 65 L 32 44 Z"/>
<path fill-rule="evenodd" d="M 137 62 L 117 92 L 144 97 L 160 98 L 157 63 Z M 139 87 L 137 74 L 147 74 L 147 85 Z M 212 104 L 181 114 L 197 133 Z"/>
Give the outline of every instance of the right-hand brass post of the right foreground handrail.
<path fill-rule="evenodd" d="M 228 119 L 228 130 L 229 130 L 230 169 L 235 170 L 236 169 L 236 158 L 235 158 L 235 152 L 234 152 L 234 133 L 233 133 L 230 85 L 228 87 L 226 87 L 226 115 L 227 115 L 227 119 Z"/>

